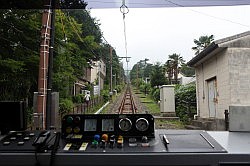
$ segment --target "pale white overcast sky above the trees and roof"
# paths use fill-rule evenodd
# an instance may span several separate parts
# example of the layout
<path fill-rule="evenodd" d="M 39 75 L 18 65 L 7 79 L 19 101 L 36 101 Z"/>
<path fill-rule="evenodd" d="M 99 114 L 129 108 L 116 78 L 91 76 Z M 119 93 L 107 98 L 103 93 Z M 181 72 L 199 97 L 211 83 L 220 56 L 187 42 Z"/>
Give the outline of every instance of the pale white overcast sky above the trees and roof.
<path fill-rule="evenodd" d="M 103 36 L 120 57 L 126 56 L 123 17 L 119 8 L 91 9 Z M 214 35 L 215 40 L 250 30 L 250 6 L 131 8 L 125 17 L 128 69 L 145 58 L 165 63 L 168 55 L 194 57 L 193 40 Z M 125 60 L 124 69 L 127 70 Z"/>

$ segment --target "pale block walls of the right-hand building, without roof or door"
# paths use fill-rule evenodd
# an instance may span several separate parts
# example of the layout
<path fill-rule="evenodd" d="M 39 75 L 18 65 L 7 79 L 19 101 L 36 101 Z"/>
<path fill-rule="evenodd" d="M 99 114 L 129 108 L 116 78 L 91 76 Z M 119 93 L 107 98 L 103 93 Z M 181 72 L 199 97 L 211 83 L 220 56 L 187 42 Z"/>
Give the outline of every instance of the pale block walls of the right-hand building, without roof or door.
<path fill-rule="evenodd" d="M 207 80 L 216 77 L 216 118 L 229 105 L 250 105 L 250 48 L 228 48 L 196 68 L 200 117 L 209 118 Z"/>

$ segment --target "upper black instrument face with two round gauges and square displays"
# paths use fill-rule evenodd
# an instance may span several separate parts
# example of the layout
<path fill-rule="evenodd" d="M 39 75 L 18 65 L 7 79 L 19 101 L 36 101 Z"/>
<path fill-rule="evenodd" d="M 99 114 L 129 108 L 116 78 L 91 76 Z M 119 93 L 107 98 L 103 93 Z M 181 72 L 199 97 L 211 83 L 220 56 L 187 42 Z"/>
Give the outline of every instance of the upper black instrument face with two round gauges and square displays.
<path fill-rule="evenodd" d="M 154 138 L 154 117 L 150 114 L 70 114 L 62 119 L 62 137 L 96 134 Z"/>

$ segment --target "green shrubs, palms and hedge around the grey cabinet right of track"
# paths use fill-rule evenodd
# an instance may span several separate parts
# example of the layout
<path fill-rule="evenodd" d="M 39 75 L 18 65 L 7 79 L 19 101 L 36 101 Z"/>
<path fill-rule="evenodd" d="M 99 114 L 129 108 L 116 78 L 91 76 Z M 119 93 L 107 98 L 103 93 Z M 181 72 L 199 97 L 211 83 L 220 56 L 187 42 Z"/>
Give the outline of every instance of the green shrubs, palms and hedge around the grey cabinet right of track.
<path fill-rule="evenodd" d="M 161 85 L 175 85 L 175 109 L 177 116 L 183 122 L 189 122 L 196 113 L 196 86 L 195 84 L 179 85 L 178 74 L 194 76 L 194 69 L 188 67 L 179 54 L 171 54 L 164 65 L 143 63 L 135 64 L 130 72 L 131 82 L 141 92 L 149 94 L 158 103 L 160 101 Z M 146 71 L 146 72 L 145 72 Z M 150 76 L 150 82 L 146 76 Z"/>

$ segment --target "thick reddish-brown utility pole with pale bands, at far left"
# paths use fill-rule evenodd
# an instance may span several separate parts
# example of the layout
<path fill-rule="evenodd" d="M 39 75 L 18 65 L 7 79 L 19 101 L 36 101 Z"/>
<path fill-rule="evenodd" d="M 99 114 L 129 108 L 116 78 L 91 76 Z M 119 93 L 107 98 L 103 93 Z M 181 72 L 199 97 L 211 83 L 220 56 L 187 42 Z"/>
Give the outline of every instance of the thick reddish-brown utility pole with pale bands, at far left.
<path fill-rule="evenodd" d="M 37 109 L 34 111 L 34 123 L 36 129 L 45 129 L 46 127 L 47 77 L 52 16 L 51 1 L 46 1 L 44 6 L 47 6 L 48 9 L 45 9 L 42 14 Z"/>

